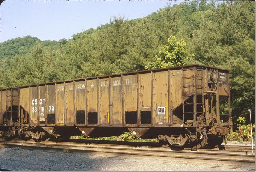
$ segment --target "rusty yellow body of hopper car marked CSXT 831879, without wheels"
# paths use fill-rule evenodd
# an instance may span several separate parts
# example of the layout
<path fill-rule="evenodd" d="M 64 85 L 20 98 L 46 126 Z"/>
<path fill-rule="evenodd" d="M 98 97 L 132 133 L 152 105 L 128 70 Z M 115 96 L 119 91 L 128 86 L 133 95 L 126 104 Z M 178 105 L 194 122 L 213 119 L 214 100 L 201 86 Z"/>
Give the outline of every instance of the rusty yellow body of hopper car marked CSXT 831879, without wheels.
<path fill-rule="evenodd" d="M 230 99 L 229 70 L 187 65 L 21 86 L 20 116 L 32 126 L 231 126 L 220 96 Z"/>

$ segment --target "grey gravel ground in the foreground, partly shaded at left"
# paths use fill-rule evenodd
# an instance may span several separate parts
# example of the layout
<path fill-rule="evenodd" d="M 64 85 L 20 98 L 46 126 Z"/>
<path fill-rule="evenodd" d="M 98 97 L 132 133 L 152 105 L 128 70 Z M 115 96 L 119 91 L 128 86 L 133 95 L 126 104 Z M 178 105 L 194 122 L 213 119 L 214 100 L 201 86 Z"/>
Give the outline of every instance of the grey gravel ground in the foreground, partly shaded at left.
<path fill-rule="evenodd" d="M 235 144 L 235 143 L 234 143 Z M 189 163 L 40 148 L 0 148 L 0 167 L 15 171 L 245 171 L 254 167 Z"/>

